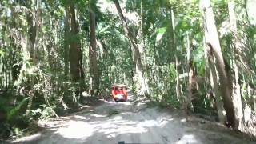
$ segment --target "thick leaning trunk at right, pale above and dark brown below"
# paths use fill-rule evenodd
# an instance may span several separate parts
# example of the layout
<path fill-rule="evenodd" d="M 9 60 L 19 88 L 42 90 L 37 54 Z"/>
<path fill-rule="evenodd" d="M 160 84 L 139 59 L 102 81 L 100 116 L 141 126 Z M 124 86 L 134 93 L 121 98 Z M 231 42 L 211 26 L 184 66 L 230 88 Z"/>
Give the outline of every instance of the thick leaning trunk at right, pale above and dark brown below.
<path fill-rule="evenodd" d="M 210 0 L 201 0 L 201 4 L 205 27 L 206 46 L 210 47 L 210 51 L 216 58 L 216 67 L 219 74 L 224 109 L 226 110 L 227 124 L 234 128 L 234 106 L 231 98 L 232 86 L 230 86 L 230 79 L 222 56 L 222 50 L 218 39 L 218 31 L 215 26 L 214 12 L 210 6 Z"/>

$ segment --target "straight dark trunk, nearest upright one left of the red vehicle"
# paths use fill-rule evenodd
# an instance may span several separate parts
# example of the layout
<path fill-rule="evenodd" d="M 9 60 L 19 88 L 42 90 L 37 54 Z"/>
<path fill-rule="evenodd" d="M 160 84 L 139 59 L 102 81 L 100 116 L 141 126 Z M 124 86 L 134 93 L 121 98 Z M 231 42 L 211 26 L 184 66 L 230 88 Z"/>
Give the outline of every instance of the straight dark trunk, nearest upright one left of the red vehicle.
<path fill-rule="evenodd" d="M 90 94 L 94 95 L 95 90 L 98 90 L 98 66 L 97 66 L 97 51 L 96 51 L 96 34 L 95 34 L 95 14 L 94 10 L 90 9 Z"/>

